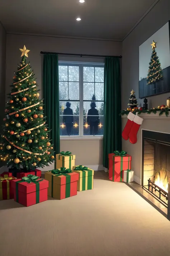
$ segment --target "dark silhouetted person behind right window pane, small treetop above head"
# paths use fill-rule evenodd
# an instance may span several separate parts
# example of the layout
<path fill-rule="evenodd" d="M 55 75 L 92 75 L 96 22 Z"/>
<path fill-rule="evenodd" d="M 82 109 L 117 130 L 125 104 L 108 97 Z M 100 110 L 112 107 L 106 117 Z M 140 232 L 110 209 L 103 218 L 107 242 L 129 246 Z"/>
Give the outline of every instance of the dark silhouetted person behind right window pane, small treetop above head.
<path fill-rule="evenodd" d="M 92 100 L 96 100 L 95 95 L 93 94 Z M 99 112 L 96 109 L 96 103 L 90 103 L 90 109 L 88 110 L 87 123 L 90 125 L 90 135 L 98 134 L 98 125 L 100 123 Z"/>

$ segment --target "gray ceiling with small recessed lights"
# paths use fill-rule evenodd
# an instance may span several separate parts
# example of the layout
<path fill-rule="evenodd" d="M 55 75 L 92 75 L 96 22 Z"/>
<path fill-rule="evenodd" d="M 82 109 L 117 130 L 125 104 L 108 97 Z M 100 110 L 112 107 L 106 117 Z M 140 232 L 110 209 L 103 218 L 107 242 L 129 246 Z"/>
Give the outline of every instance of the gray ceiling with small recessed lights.
<path fill-rule="evenodd" d="M 0 1 L 0 21 L 7 32 L 122 40 L 154 2 L 5 0 Z"/>

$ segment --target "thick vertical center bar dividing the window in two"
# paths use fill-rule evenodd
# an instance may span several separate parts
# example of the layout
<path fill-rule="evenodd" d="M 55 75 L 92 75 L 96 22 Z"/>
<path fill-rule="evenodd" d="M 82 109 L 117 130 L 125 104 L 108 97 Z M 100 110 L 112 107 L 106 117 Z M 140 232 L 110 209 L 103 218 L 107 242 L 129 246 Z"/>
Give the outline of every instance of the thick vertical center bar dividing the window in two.
<path fill-rule="evenodd" d="M 79 134 L 83 136 L 83 65 L 80 64 L 80 112 L 79 112 Z"/>

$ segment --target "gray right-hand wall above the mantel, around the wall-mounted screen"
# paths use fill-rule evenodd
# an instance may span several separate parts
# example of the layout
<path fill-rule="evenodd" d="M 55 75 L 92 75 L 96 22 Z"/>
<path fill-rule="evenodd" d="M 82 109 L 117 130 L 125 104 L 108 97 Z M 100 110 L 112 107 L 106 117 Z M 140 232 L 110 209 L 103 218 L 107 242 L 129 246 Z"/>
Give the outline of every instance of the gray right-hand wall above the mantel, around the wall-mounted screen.
<path fill-rule="evenodd" d="M 139 46 L 170 20 L 170 0 L 160 0 L 123 41 L 122 45 L 122 109 L 127 108 L 130 91 L 139 96 Z M 165 104 L 170 93 L 148 97 L 148 107 Z M 138 103 L 143 106 L 143 99 Z"/>

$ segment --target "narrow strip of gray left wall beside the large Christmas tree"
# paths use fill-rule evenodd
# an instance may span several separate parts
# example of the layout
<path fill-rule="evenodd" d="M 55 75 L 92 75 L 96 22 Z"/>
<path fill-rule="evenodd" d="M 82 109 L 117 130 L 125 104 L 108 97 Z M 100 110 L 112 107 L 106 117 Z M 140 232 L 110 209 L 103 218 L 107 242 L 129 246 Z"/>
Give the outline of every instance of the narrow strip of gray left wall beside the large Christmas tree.
<path fill-rule="evenodd" d="M 6 32 L 0 23 L 0 125 L 3 123 L 5 107 L 5 58 L 6 58 Z"/>

